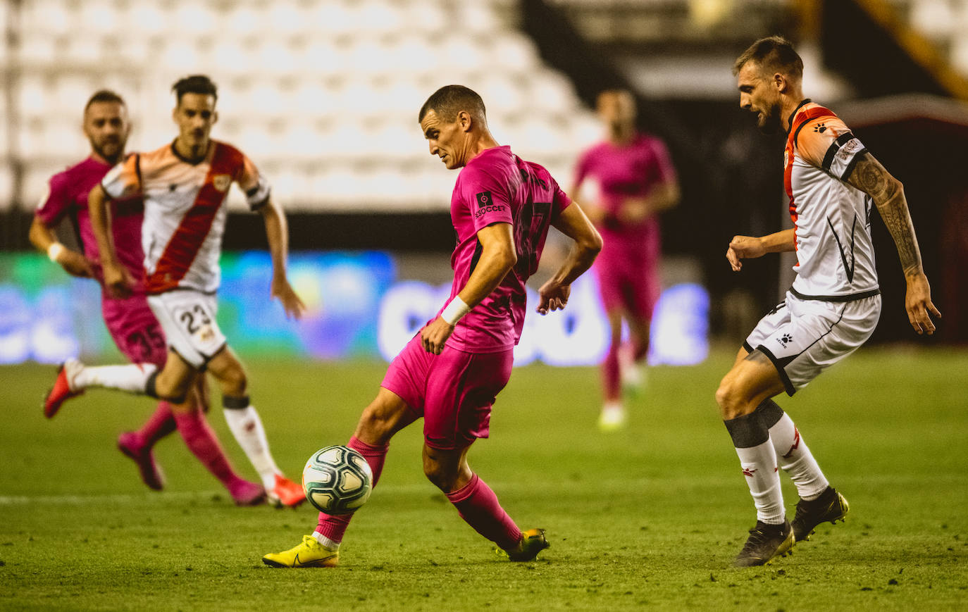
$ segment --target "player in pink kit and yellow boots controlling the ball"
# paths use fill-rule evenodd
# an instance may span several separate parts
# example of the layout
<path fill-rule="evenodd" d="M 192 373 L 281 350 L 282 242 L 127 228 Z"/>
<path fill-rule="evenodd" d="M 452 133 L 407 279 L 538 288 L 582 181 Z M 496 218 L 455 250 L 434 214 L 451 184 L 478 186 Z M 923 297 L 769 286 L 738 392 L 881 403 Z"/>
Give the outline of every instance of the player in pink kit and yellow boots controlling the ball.
<path fill-rule="evenodd" d="M 457 231 L 454 283 L 446 306 L 390 364 L 348 446 L 366 458 L 376 485 L 390 439 L 423 416 L 424 474 L 478 534 L 511 561 L 530 561 L 548 546 L 544 531 L 518 529 L 470 470 L 468 451 L 488 436 L 495 396 L 510 377 L 525 320 L 525 282 L 537 268 L 549 226 L 575 244 L 539 291 L 541 314 L 564 308 L 571 283 L 590 267 L 601 238 L 545 168 L 499 146 L 484 102 L 467 87 L 441 87 L 420 108 L 418 121 L 431 155 L 448 169 L 463 168 L 450 204 Z M 336 566 L 350 518 L 320 513 L 312 536 L 262 562 Z"/>

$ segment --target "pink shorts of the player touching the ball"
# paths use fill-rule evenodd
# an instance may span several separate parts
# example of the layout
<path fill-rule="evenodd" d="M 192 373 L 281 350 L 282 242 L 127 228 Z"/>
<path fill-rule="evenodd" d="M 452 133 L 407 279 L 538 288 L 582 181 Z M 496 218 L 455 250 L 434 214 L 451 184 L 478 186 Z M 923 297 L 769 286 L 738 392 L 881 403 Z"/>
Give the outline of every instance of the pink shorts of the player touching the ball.
<path fill-rule="evenodd" d="M 490 433 L 491 407 L 511 378 L 514 351 L 424 351 L 415 335 L 390 363 L 380 383 L 424 417 L 432 448 L 463 448 Z"/>

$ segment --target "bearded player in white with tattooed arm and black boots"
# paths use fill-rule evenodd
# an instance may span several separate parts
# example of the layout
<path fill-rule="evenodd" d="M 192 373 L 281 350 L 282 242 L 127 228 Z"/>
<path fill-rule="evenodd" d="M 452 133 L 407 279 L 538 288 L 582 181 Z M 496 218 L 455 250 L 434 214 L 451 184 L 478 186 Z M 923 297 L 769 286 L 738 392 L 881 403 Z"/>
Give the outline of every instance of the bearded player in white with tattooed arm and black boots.
<path fill-rule="evenodd" d="M 847 500 L 828 483 L 790 416 L 771 399 L 793 395 L 823 370 L 855 352 L 881 313 L 870 215 L 877 206 L 907 281 L 905 308 L 919 334 L 934 332 L 918 239 L 901 183 L 831 110 L 802 94 L 803 62 L 780 37 L 757 41 L 737 59 L 740 106 L 760 129 L 787 133 L 784 183 L 794 229 L 734 236 L 726 258 L 742 260 L 796 251 L 797 277 L 786 299 L 746 338 L 716 390 L 716 403 L 740 456 L 756 505 L 756 526 L 736 566 L 762 566 L 807 539 L 822 522 L 843 520 Z M 786 519 L 777 464 L 790 474 L 800 501 Z"/>

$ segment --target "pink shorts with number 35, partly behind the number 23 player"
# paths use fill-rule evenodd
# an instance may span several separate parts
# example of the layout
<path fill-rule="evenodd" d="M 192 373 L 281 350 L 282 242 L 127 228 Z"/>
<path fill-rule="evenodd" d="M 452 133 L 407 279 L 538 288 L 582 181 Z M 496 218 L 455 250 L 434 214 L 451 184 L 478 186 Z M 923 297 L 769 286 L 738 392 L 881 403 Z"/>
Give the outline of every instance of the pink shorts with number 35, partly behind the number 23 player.
<path fill-rule="evenodd" d="M 165 332 L 144 295 L 126 299 L 102 296 L 101 312 L 114 344 L 132 363 L 154 363 L 164 367 L 168 355 Z"/>

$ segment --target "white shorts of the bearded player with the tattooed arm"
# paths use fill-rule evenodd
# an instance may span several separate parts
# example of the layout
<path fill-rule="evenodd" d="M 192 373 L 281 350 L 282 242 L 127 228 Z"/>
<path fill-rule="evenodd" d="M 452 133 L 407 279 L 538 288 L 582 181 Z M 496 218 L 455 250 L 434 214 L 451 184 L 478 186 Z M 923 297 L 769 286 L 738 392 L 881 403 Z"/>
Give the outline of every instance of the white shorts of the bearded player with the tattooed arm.
<path fill-rule="evenodd" d="M 786 299 L 753 328 L 742 344 L 746 351 L 767 355 L 788 395 L 857 351 L 881 318 L 881 296 L 846 302 Z"/>

